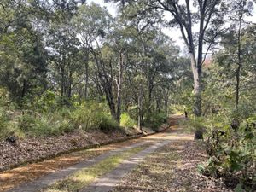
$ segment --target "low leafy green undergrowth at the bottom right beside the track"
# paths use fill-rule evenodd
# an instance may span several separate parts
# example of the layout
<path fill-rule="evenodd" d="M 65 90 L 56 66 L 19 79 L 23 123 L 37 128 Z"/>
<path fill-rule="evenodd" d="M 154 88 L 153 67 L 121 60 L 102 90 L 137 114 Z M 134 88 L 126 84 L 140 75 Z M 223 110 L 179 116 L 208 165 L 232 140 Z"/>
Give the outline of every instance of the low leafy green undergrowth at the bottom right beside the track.
<path fill-rule="evenodd" d="M 229 114 L 226 114 L 229 113 Z M 256 114 L 228 111 L 181 122 L 189 130 L 203 129 L 209 155 L 199 171 L 223 177 L 235 191 L 256 190 Z M 245 115 L 247 114 L 247 115 Z"/>

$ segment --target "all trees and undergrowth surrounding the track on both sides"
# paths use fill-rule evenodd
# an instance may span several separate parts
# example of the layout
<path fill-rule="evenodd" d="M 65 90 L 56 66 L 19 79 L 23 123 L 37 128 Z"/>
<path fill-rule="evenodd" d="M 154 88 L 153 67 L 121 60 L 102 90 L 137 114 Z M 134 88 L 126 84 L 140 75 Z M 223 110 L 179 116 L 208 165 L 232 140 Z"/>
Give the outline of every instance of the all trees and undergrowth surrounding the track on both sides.
<path fill-rule="evenodd" d="M 118 14 L 84 0 L 1 0 L 0 147 L 76 131 L 157 131 L 184 113 L 180 124 L 206 145 L 200 172 L 254 191 L 255 1 L 105 2 Z M 165 33 L 173 27 L 183 49 Z"/>

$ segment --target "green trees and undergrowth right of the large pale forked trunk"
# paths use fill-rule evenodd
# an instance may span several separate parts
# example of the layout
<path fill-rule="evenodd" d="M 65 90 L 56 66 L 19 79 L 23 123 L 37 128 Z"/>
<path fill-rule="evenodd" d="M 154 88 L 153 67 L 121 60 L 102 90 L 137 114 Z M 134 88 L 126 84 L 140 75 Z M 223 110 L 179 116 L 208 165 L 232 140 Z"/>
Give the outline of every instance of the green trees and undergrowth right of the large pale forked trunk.
<path fill-rule="evenodd" d="M 180 125 L 195 133 L 203 133 L 209 159 L 199 165 L 202 174 L 223 177 L 225 184 L 236 191 L 253 191 L 256 189 L 255 77 L 251 65 L 246 64 L 250 61 L 245 60 L 237 104 L 236 66 L 233 68 L 230 65 L 230 57 L 223 58 L 222 54 L 227 50 L 230 47 L 220 51 L 214 57 L 212 66 L 206 70 L 203 116 L 193 115 L 188 108 L 192 108 L 188 100 L 185 105 L 189 118 L 180 122 Z M 188 93 L 184 91 L 183 94 Z"/>

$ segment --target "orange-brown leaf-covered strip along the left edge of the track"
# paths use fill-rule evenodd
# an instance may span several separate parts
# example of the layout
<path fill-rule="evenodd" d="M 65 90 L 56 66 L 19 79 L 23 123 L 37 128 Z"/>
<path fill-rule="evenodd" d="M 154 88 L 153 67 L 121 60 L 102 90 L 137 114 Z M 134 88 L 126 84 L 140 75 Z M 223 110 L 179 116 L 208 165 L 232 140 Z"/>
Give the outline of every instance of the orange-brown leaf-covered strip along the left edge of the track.
<path fill-rule="evenodd" d="M 9 171 L 0 172 L 0 191 L 12 189 L 21 183 L 30 182 L 50 172 L 61 170 L 79 163 L 82 160 L 89 160 L 115 148 L 122 148 L 137 142 L 140 142 L 140 140 L 132 139 L 122 143 L 105 145 L 100 148 L 91 148 L 70 154 L 62 154 L 50 160 L 44 160 L 43 162 L 32 163 Z"/>

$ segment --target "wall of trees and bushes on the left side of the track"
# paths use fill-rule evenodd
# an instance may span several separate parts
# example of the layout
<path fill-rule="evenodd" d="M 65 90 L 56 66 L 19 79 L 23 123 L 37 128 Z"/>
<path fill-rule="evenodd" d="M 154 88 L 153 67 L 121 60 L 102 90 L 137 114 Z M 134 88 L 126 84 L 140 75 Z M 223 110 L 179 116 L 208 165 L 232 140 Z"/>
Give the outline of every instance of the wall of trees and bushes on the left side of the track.
<path fill-rule="evenodd" d="M 187 59 L 160 27 L 79 1 L 3 0 L 0 13 L 0 140 L 166 122 Z"/>

